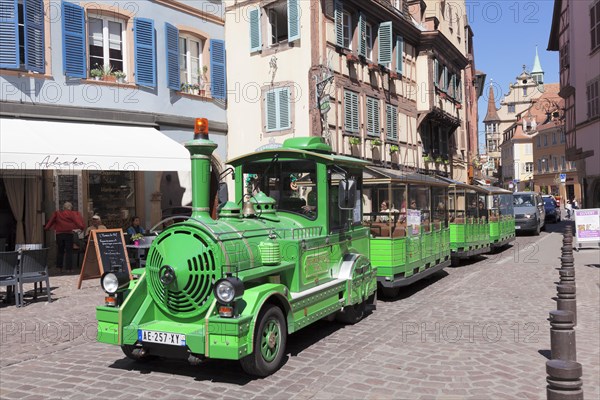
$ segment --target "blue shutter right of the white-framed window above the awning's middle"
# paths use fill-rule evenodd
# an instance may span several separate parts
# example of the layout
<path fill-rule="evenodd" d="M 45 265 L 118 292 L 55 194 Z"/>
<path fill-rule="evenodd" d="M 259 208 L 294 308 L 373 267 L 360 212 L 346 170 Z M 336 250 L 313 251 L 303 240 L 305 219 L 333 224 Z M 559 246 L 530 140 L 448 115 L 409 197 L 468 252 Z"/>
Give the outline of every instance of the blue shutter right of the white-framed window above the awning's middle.
<path fill-rule="evenodd" d="M 154 21 L 146 18 L 134 18 L 133 38 L 135 83 L 141 86 L 156 87 Z"/>

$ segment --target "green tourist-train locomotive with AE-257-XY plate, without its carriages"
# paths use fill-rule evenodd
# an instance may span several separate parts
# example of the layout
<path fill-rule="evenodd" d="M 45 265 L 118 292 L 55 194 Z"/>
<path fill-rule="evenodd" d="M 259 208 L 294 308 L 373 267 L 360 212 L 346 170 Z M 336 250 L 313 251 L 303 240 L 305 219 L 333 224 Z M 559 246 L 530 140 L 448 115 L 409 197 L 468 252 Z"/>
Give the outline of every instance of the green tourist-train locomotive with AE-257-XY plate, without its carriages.
<path fill-rule="evenodd" d="M 366 163 L 332 155 L 320 138 L 237 158 L 235 201 L 213 220 L 216 145 L 203 133 L 186 143 L 192 216 L 158 234 L 132 281 L 103 275 L 98 340 L 136 360 L 240 360 L 247 373 L 266 376 L 281 365 L 288 333 L 327 316 L 354 323 L 375 306 L 361 223 Z"/>

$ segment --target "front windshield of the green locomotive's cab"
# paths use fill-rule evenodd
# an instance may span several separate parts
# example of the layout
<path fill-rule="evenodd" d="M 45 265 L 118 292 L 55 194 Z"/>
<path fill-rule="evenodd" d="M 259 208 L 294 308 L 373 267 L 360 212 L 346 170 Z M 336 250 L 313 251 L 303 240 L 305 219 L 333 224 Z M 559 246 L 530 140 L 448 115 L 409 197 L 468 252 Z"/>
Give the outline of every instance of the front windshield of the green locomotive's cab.
<path fill-rule="evenodd" d="M 265 161 L 244 166 L 245 194 L 263 192 L 278 211 L 317 218 L 317 168 L 314 161 Z"/>

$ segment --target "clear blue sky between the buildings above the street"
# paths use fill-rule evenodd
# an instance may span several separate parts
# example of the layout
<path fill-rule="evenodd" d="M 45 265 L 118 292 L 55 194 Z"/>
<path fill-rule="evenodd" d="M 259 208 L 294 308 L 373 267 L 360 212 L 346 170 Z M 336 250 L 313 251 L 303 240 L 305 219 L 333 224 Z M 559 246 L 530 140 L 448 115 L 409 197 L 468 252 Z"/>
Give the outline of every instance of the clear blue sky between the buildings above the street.
<path fill-rule="evenodd" d="M 554 1 L 467 0 L 466 4 L 474 34 L 475 67 L 487 75 L 479 99 L 479 148 L 482 149 L 485 137 L 481 121 L 487 111 L 490 85 L 494 86 L 498 107 L 508 85 L 523 70 L 523 64 L 531 70 L 536 45 L 545 82 L 559 81 L 558 52 L 546 51 Z"/>

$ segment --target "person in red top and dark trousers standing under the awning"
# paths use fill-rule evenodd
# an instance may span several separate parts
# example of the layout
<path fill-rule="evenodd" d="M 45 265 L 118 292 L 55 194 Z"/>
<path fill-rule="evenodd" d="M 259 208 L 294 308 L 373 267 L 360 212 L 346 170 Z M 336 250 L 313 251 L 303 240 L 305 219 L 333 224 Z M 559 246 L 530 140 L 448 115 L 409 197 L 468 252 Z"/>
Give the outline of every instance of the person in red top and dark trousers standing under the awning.
<path fill-rule="evenodd" d="M 54 228 L 56 231 L 56 268 L 62 270 L 63 265 L 67 270 L 73 268 L 73 231 L 83 230 L 83 218 L 78 211 L 73 210 L 73 204 L 68 201 L 63 204 L 63 209 L 55 211 L 44 227 L 45 230 Z M 65 260 L 66 256 L 66 260 Z"/>

